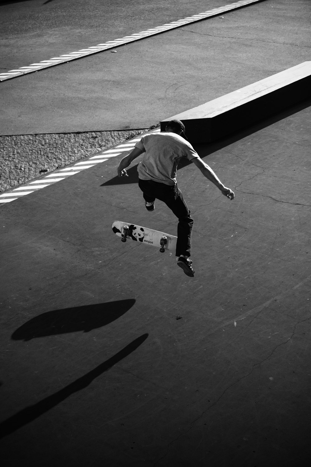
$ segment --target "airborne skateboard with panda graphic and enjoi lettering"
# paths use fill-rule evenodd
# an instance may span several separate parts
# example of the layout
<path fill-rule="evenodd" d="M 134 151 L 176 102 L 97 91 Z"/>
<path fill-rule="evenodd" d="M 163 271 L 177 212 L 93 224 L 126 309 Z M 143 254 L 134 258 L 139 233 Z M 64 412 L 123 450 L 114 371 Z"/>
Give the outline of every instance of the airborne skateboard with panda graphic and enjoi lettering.
<path fill-rule="evenodd" d="M 136 226 L 135 224 L 120 220 L 115 220 L 111 228 L 118 237 L 121 237 L 121 241 L 123 242 L 131 239 L 145 243 L 145 245 L 152 245 L 153 247 L 160 248 L 161 253 L 164 253 L 166 250 L 175 251 L 176 249 L 177 237 L 168 233 Z"/>

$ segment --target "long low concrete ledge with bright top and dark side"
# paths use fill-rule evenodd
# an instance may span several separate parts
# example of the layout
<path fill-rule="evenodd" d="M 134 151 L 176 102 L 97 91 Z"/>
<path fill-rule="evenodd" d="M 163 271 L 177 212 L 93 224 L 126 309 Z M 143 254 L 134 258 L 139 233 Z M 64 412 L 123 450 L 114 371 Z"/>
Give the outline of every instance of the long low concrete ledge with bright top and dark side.
<path fill-rule="evenodd" d="M 311 62 L 230 92 L 161 121 L 181 120 L 189 142 L 212 142 L 233 134 L 311 96 Z"/>

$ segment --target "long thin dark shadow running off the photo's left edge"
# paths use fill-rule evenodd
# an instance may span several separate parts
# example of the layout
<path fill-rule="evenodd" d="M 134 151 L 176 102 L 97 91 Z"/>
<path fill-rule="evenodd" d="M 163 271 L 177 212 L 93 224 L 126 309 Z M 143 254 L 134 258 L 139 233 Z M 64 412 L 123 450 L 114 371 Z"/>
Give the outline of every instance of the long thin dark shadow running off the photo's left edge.
<path fill-rule="evenodd" d="M 67 397 L 71 396 L 75 392 L 81 391 L 81 389 L 89 386 L 97 376 L 100 376 L 102 373 L 113 367 L 113 365 L 116 365 L 120 360 L 134 352 L 134 350 L 136 350 L 147 339 L 147 337 L 147 333 L 141 335 L 120 350 L 120 352 L 98 365 L 98 367 L 94 368 L 86 375 L 78 378 L 76 381 L 70 383 L 60 391 L 55 392 L 55 394 L 46 397 L 34 405 L 29 405 L 26 409 L 23 409 L 12 417 L 7 418 L 7 420 L 0 423 L 0 439 L 34 421 L 36 418 L 40 417 L 48 410 L 53 409 L 53 407 L 67 399 Z"/>

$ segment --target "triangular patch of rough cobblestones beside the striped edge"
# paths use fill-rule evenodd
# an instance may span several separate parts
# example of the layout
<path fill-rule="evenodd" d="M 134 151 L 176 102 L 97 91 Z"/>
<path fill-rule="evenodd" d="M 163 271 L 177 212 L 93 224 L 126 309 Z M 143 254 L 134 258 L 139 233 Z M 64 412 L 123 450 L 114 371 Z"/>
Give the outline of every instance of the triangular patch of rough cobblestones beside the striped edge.
<path fill-rule="evenodd" d="M 0 192 L 65 167 L 148 131 L 21 134 L 0 136 Z"/>

